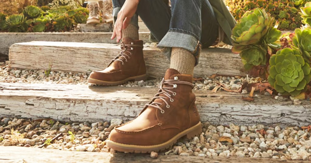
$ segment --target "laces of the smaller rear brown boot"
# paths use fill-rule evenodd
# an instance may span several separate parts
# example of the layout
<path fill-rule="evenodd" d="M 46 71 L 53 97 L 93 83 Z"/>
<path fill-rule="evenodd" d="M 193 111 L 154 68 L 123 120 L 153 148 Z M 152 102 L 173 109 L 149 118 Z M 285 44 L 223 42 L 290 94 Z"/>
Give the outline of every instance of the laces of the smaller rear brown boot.
<path fill-rule="evenodd" d="M 124 61 L 128 62 L 128 59 L 131 58 L 130 55 L 132 55 L 133 53 L 130 52 L 130 50 L 133 50 L 134 49 L 133 47 L 142 47 L 141 45 L 135 45 L 133 42 L 131 44 L 124 44 L 124 43 L 120 43 L 120 44 L 121 44 L 122 51 L 113 60 L 111 60 L 111 62 L 121 61 L 122 65 L 124 65 Z"/>

